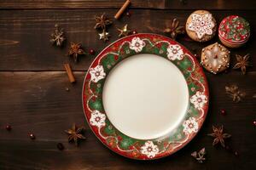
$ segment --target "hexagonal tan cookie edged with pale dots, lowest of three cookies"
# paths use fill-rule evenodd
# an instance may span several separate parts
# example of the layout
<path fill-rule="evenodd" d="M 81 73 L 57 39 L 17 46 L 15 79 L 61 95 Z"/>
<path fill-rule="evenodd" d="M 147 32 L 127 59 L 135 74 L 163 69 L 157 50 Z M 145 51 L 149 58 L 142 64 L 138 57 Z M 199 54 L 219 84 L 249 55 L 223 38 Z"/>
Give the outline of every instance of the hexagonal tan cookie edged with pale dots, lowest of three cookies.
<path fill-rule="evenodd" d="M 213 74 L 224 71 L 230 65 L 230 51 L 218 42 L 213 43 L 202 49 L 201 65 Z"/>

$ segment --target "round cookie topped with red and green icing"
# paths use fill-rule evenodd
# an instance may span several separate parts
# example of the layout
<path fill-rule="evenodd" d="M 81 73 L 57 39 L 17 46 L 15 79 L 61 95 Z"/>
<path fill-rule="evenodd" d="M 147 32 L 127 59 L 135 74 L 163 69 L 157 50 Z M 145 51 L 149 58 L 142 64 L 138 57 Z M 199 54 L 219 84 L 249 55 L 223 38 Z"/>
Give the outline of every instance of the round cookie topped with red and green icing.
<path fill-rule="evenodd" d="M 240 16 L 230 15 L 219 24 L 218 37 L 225 46 L 238 48 L 250 37 L 249 23 Z"/>

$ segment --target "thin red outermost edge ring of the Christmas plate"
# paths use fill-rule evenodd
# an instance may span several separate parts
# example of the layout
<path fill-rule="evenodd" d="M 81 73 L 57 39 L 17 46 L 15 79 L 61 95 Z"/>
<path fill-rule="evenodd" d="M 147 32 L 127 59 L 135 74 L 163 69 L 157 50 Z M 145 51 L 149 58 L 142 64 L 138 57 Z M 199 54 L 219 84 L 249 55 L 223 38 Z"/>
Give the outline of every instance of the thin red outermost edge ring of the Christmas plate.
<path fill-rule="evenodd" d="M 125 155 L 123 152 L 124 151 L 117 151 L 117 150 L 113 150 L 113 148 L 111 148 L 107 143 L 104 143 L 102 141 L 102 139 L 100 138 L 100 136 L 98 134 L 96 134 L 95 130 L 92 128 L 92 126 L 90 125 L 90 120 L 87 118 L 87 115 L 86 115 L 86 110 L 84 108 L 84 85 L 85 85 L 85 81 L 86 81 L 86 77 L 88 76 L 88 74 L 90 74 L 89 70 L 90 68 L 92 67 L 92 65 L 94 65 L 94 63 L 96 62 L 96 60 L 103 54 L 103 53 L 106 53 L 106 50 L 108 48 L 110 48 L 113 44 L 115 44 L 116 42 L 120 42 L 124 39 L 127 39 L 127 38 L 131 38 L 131 37 L 142 37 L 142 36 L 151 36 L 151 37 L 160 37 L 160 38 L 165 38 L 165 39 L 168 39 L 168 41 L 170 42 L 175 42 L 176 44 L 178 44 L 180 47 L 184 48 L 186 51 L 189 52 L 189 55 L 191 56 L 191 59 L 193 60 L 193 62 L 195 62 L 195 65 L 198 65 L 199 66 L 199 70 L 200 70 L 200 73 L 201 73 L 201 76 L 203 77 L 204 79 L 204 88 L 205 88 L 205 92 L 204 94 L 206 94 L 207 96 L 207 103 L 205 104 L 204 106 L 204 115 L 202 116 L 202 121 L 201 121 L 201 124 L 200 126 L 198 127 L 198 130 L 196 133 L 193 133 L 188 140 L 186 140 L 183 144 L 181 144 L 179 147 L 177 147 L 177 150 L 173 150 L 172 152 L 165 152 L 165 154 L 163 156 L 154 156 L 153 158 L 140 158 L 140 157 L 134 157 L 134 156 L 129 156 L 129 155 Z M 181 150 L 183 149 L 184 146 L 186 146 L 187 144 L 189 144 L 189 142 L 195 138 L 195 136 L 197 135 L 197 133 L 199 133 L 199 131 L 201 130 L 201 127 L 203 126 L 205 120 L 206 120 L 206 116 L 207 116 L 207 112 L 208 112 L 208 109 L 209 109 L 209 98 L 210 98 L 210 94 L 209 94 L 209 88 L 208 88 L 208 82 L 207 82 L 207 77 L 205 75 L 205 72 L 203 71 L 200 63 L 198 62 L 197 59 L 195 59 L 195 56 L 192 54 L 192 53 L 189 51 L 188 48 L 185 48 L 183 46 L 183 44 L 179 43 L 179 42 L 176 42 L 175 40 L 172 40 L 172 38 L 170 37 L 165 37 L 163 35 L 160 35 L 160 34 L 154 34 L 154 33 L 137 33 L 137 34 L 134 34 L 134 35 L 130 35 L 130 36 L 127 36 L 127 37 L 121 37 L 117 40 L 115 40 L 114 42 L 111 42 L 110 44 L 108 44 L 108 46 L 106 48 L 103 48 L 101 50 L 101 52 L 99 54 L 97 54 L 96 58 L 93 59 L 93 61 L 91 61 L 91 64 L 90 66 L 88 67 L 88 70 L 86 71 L 85 73 L 85 76 L 84 76 L 84 82 L 83 82 L 83 86 L 82 86 L 82 106 L 83 106 L 83 111 L 84 111 L 84 116 L 85 116 L 85 119 L 86 119 L 86 122 L 88 123 L 89 127 L 90 127 L 90 130 L 95 134 L 96 138 L 99 139 L 101 141 L 102 144 L 104 144 L 109 150 L 112 150 L 114 153 L 117 153 L 118 155 L 120 156 L 125 156 L 127 158 L 130 158 L 130 159 L 134 159 L 134 160 L 156 160 L 156 159 L 160 159 L 160 158 L 163 158 L 163 157 L 166 157 L 166 156 L 171 156 L 172 154 L 176 153 L 178 150 Z M 122 59 L 123 60 L 123 59 Z M 108 76 L 108 75 L 107 75 Z M 189 88 L 189 87 L 188 87 Z"/>

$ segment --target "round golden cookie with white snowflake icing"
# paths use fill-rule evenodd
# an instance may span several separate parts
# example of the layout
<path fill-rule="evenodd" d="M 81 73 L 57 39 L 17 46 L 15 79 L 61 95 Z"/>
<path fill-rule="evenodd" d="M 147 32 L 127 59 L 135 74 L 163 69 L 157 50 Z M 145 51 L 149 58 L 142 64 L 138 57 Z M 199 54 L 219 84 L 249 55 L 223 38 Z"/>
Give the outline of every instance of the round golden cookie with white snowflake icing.
<path fill-rule="evenodd" d="M 197 42 L 207 42 L 215 36 L 216 20 L 207 10 L 196 10 L 189 15 L 186 23 L 188 36 Z"/>

